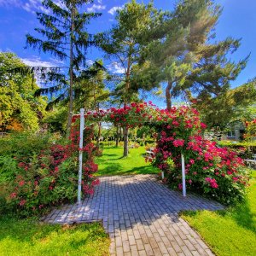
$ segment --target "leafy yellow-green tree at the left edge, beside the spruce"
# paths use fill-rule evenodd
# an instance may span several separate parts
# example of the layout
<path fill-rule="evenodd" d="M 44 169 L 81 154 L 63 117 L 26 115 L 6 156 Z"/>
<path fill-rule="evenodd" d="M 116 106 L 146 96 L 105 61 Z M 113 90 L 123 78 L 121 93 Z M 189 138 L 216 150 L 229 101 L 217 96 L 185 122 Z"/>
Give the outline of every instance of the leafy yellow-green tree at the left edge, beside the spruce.
<path fill-rule="evenodd" d="M 38 130 L 46 102 L 34 98 L 38 85 L 31 73 L 16 72 L 26 65 L 13 53 L 0 53 L 0 129 Z M 15 123 L 21 127 L 15 128 Z"/>

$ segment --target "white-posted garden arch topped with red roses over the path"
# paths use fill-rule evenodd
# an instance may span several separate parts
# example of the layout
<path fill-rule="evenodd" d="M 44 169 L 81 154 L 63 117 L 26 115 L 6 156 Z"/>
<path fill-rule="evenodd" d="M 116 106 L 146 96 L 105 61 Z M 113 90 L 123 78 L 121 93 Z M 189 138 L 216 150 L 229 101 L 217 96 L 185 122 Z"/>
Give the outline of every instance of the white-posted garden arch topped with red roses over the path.
<path fill-rule="evenodd" d="M 185 181 L 185 160 L 183 155 L 184 142 L 188 140 L 189 135 L 192 135 L 195 131 L 201 129 L 199 119 L 195 117 L 195 109 L 188 107 L 172 108 L 171 111 L 156 108 L 152 102 L 149 103 L 131 103 L 131 106 L 125 108 L 110 108 L 108 110 L 100 110 L 99 112 L 84 113 L 84 108 L 80 109 L 80 113 L 73 116 L 80 119 L 79 127 L 79 184 L 78 184 L 78 203 L 81 203 L 81 187 L 82 187 L 82 166 L 83 166 L 83 137 L 84 137 L 84 120 L 89 122 L 106 121 L 112 123 L 119 123 L 128 127 L 135 127 L 137 125 L 150 125 L 158 127 L 162 130 L 159 131 L 160 140 L 163 135 L 165 127 L 172 129 L 175 133 L 179 134 L 177 139 L 172 143 L 177 143 L 176 146 L 180 150 L 181 155 L 181 173 L 182 173 L 182 189 L 183 196 L 186 196 L 186 181 Z M 193 119 L 194 118 L 194 119 Z M 193 119 L 192 124 L 189 119 Z M 188 121 L 189 120 L 189 121 Z M 182 132 L 184 137 L 182 137 Z M 162 178 L 164 177 L 164 171 L 162 171 Z"/>

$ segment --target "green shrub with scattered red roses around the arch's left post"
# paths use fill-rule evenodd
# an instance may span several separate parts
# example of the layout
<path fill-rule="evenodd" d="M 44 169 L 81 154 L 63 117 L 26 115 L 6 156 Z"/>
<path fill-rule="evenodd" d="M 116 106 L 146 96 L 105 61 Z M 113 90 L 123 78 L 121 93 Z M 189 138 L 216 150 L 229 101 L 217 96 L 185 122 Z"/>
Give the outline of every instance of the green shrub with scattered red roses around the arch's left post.
<path fill-rule="evenodd" d="M 49 135 L 19 135 L 6 139 L 0 157 L 0 207 L 2 211 L 28 216 L 44 212 L 62 202 L 72 202 L 78 186 L 78 131 L 73 129 L 72 143 L 53 143 Z M 97 166 L 92 159 L 95 147 L 90 143 L 91 130 L 85 131 L 83 191 L 92 194 L 98 184 L 93 173 Z M 14 147 L 18 143 L 19 147 Z M 20 148 L 20 146 L 23 146 Z M 29 150 L 31 146 L 31 151 Z"/>

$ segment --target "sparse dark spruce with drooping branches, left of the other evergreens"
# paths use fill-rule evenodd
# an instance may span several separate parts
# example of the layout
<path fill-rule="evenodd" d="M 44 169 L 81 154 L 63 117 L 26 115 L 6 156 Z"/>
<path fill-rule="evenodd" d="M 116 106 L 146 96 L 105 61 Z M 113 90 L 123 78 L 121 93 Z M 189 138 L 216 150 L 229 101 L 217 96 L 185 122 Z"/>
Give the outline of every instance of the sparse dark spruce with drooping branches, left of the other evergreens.
<path fill-rule="evenodd" d="M 54 55 L 60 61 L 68 61 L 68 79 L 63 71 L 51 71 L 48 73 L 48 79 L 55 81 L 56 84 L 40 91 L 44 93 L 59 91 L 55 102 L 68 95 L 67 134 L 72 119 L 73 83 L 76 79 L 76 71 L 85 67 L 86 49 L 95 44 L 93 36 L 86 31 L 85 26 L 92 18 L 100 15 L 82 12 L 81 9 L 87 3 L 93 3 L 93 1 L 63 0 L 61 5 L 58 5 L 55 1 L 44 0 L 42 4 L 45 9 L 49 10 L 49 13 L 37 13 L 38 20 L 44 28 L 35 29 L 41 34 L 41 38 L 26 35 L 26 43 L 29 46 Z"/>

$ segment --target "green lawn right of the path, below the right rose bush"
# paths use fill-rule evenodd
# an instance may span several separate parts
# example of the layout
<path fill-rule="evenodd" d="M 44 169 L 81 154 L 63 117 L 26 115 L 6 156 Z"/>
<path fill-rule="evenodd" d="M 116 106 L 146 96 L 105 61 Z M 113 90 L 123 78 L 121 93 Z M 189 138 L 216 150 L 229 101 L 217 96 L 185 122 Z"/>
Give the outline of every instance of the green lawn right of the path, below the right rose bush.
<path fill-rule="evenodd" d="M 226 211 L 182 215 L 217 255 L 256 255 L 256 171 L 248 190 L 246 201 Z"/>

